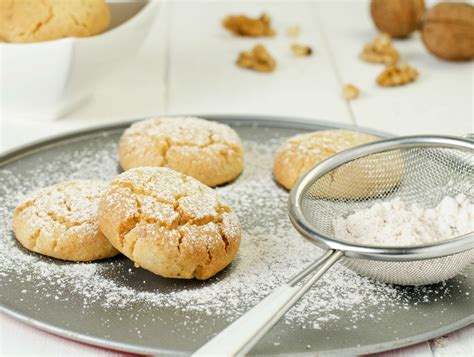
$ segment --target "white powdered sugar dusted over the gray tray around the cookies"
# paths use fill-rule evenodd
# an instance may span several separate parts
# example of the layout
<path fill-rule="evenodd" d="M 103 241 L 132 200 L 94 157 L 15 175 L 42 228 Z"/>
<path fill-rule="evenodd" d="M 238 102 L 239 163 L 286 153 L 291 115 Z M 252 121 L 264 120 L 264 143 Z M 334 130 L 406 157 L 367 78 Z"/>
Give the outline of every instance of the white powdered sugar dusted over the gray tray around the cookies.
<path fill-rule="evenodd" d="M 103 138 L 97 140 L 100 139 Z M 117 175 L 115 139 L 104 140 L 100 150 L 97 144 L 77 145 L 75 151 L 52 159 L 26 160 L 21 171 L 2 169 L 0 284 L 9 279 L 17 279 L 18 286 L 35 281 L 34 291 L 25 290 L 25 294 L 46 295 L 52 301 L 67 299 L 66 295 L 71 294 L 80 296 L 85 313 L 91 305 L 104 309 L 171 307 L 235 319 L 321 254 L 291 226 L 286 213 L 288 193 L 272 178 L 273 155 L 284 139 L 276 137 L 265 143 L 244 140 L 244 173 L 235 182 L 218 188 L 242 223 L 236 261 L 207 282 L 170 283 L 153 276 L 154 288 L 132 281 L 135 269 L 129 268 L 125 259 L 61 262 L 26 252 L 12 234 L 11 213 L 23 195 L 63 180 L 110 180 Z M 419 288 L 420 296 L 426 289 L 429 288 Z M 449 294 L 448 288 L 440 289 L 440 295 Z M 367 318 L 369 311 L 369 318 L 378 318 L 377 311 L 409 306 L 403 290 L 371 281 L 336 264 L 288 312 L 285 322 L 321 329 L 344 315 L 348 328 L 353 328 L 359 319 Z"/>

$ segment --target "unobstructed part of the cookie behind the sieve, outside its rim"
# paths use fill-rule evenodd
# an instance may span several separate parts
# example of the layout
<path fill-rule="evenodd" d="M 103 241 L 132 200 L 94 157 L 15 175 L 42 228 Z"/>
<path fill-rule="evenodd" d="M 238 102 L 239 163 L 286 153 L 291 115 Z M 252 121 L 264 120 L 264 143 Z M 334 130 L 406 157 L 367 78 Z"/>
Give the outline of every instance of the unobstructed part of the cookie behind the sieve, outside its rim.
<path fill-rule="evenodd" d="M 273 174 L 279 184 L 291 190 L 296 181 L 318 162 L 339 151 L 378 139 L 374 135 L 348 130 L 299 134 L 289 138 L 276 153 Z"/>

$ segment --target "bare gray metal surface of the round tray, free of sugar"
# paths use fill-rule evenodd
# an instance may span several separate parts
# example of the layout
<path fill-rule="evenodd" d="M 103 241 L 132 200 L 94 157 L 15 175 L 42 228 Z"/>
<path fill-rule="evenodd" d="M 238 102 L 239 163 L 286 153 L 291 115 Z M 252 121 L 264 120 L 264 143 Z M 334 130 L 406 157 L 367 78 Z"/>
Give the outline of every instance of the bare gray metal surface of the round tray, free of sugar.
<path fill-rule="evenodd" d="M 204 117 L 233 126 L 241 135 L 244 145 L 271 141 L 276 148 L 286 138 L 297 133 L 340 127 L 388 136 L 388 134 L 367 129 L 293 118 Z M 5 184 L 0 185 L 0 198 L 6 197 L 7 190 L 15 190 L 14 180 L 9 181 L 9 177 L 28 179 L 27 175 L 34 172 L 32 169 L 39 169 L 45 165 L 45 162 L 54 161 L 64 153 L 80 156 L 84 148 L 87 148 L 88 152 L 93 151 L 94 148 L 97 150 L 103 150 L 104 147 L 116 149 L 116 146 L 107 146 L 107 144 L 116 143 L 129 124 L 63 135 L 3 155 L 0 160 L 0 181 L 3 178 L 1 182 Z M 253 158 L 254 155 L 246 147 L 246 165 L 252 165 Z M 120 172 L 115 159 L 108 161 L 100 159 L 97 165 L 106 167 L 111 177 Z M 261 174 L 271 176 L 272 163 L 268 162 L 263 166 L 259 169 Z M 73 163 L 64 163 L 61 170 L 64 170 L 63 175 L 67 176 L 70 173 L 71 177 L 75 177 L 74 170 L 77 168 Z M 240 177 L 238 180 L 245 180 L 245 177 Z M 55 182 L 44 182 L 44 184 L 53 183 Z M 276 183 L 273 184 L 277 186 Z M 16 203 L 3 202 L 8 209 L 13 209 Z M 281 205 L 281 209 L 274 215 L 263 217 L 258 221 L 255 221 L 255 217 L 241 218 L 243 222 L 247 222 L 245 224 L 262 225 L 271 225 L 272 220 L 275 222 L 287 220 L 285 203 L 282 202 Z M 4 227 L 11 226 L 8 220 L 0 221 L 0 224 Z M 288 225 L 288 229 L 292 229 L 291 225 Z M 7 234 L 1 236 L 0 239 L 13 242 L 15 238 L 11 228 L 4 231 Z M 22 250 L 18 245 L 12 249 Z M 317 250 L 316 247 L 314 249 Z M 25 291 L 35 291 L 35 287 L 41 282 L 35 279 L 34 271 L 26 273 L 23 271 L 20 274 L 14 269 L 2 266 L 2 254 L 8 254 L 8 251 L 0 252 L 0 310 L 25 323 L 57 335 L 129 352 L 178 355 L 189 354 L 229 324 L 229 320 L 220 315 L 213 316 L 198 311 L 184 312 L 176 307 L 161 307 L 150 311 L 149 308 L 140 304 L 134 304 L 104 309 L 100 302 L 92 302 L 85 310 L 80 294 L 68 291 L 67 288 L 62 291 L 61 299 L 55 298 L 58 287 L 54 285 L 44 286 L 43 284 L 39 293 L 25 294 Z M 24 251 L 24 254 L 30 253 Z M 54 266 L 68 264 L 47 257 L 39 259 Z M 141 269 L 134 269 L 132 275 L 127 275 L 132 264 L 124 257 L 113 260 L 116 264 L 111 265 L 107 271 L 107 277 L 137 291 L 143 291 L 144 286 L 150 291 L 154 289 L 172 291 L 173 289 L 196 289 L 206 284 L 206 282 L 162 279 Z M 108 261 L 104 261 L 99 264 L 107 263 Z M 234 264 L 239 264 L 239 261 L 237 260 Z M 221 273 L 221 279 L 232 274 L 232 271 L 233 265 Z M 29 275 L 28 279 L 25 279 L 25 274 Z M 330 274 L 331 271 L 328 272 L 328 275 Z M 131 278 L 124 279 L 125 275 Z M 432 285 L 424 289 L 423 294 L 428 296 L 428 300 L 423 300 L 426 296 L 420 296 L 420 289 L 396 287 L 407 297 L 404 304 L 399 306 L 395 304 L 386 310 L 376 305 L 369 307 L 366 316 L 358 320 L 357 328 L 350 328 L 352 323 L 350 317 L 347 316 L 347 311 L 333 312 L 339 314 L 338 319 L 316 329 L 280 322 L 255 346 L 251 354 L 294 355 L 315 352 L 363 354 L 402 347 L 446 334 L 474 321 L 473 303 L 470 298 L 473 278 L 474 269 L 471 265 L 462 275 L 444 284 Z M 448 293 L 446 293 L 447 290 L 449 290 Z M 437 299 L 436 296 L 440 291 L 445 293 L 443 298 Z M 245 301 L 242 304 L 245 306 Z M 244 310 L 250 307 L 245 306 Z M 378 318 L 372 318 L 374 314 L 377 314 Z M 139 331 L 138 334 L 137 331 Z"/>

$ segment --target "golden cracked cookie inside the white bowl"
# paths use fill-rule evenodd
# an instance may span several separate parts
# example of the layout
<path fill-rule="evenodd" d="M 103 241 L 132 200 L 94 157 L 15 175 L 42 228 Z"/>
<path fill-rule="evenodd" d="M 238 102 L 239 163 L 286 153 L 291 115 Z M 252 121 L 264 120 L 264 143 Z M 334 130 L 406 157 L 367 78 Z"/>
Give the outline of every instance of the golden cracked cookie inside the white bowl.
<path fill-rule="evenodd" d="M 105 0 L 0 0 L 0 39 L 5 42 L 92 36 L 104 31 L 109 20 Z"/>

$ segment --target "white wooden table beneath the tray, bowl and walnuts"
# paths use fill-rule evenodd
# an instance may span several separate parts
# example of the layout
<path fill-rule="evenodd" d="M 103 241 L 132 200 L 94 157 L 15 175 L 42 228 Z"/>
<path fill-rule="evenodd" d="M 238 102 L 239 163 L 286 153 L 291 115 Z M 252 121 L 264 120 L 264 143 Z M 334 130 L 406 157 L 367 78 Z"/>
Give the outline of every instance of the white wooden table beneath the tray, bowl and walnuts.
<path fill-rule="evenodd" d="M 231 13 L 267 11 L 278 36 L 236 38 L 220 26 Z M 299 25 L 296 40 L 314 55 L 291 54 L 286 29 Z M 429 55 L 421 41 L 397 41 L 404 60 L 420 72 L 418 81 L 379 88 L 382 70 L 358 59 L 376 32 L 364 1 L 165 2 L 146 45 L 133 63 L 104 79 L 94 98 L 62 120 L 32 122 L 1 117 L 0 150 L 78 128 L 156 114 L 233 113 L 316 118 L 367 126 L 395 134 L 473 132 L 473 64 L 448 63 Z M 272 74 L 239 69 L 239 51 L 264 43 L 278 61 Z M 342 98 L 355 84 L 361 97 Z M 474 307 L 473 307 L 474 308 Z M 433 317 L 435 318 L 435 317 Z M 474 327 L 383 356 L 473 356 Z M 125 354 L 69 341 L 0 315 L 0 354 Z"/>

